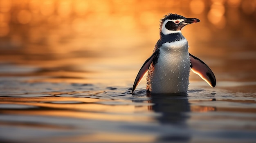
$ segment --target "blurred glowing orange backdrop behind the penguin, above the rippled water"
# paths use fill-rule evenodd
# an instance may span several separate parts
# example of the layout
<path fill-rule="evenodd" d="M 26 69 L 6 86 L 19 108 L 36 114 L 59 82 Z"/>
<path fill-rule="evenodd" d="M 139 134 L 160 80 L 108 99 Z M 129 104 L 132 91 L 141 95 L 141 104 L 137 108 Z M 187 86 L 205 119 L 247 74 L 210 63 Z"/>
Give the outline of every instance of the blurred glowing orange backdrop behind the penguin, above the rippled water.
<path fill-rule="evenodd" d="M 256 0 L 0 0 L 0 77 L 131 86 L 168 13 L 201 20 L 182 33 L 217 80 L 255 81 Z"/>

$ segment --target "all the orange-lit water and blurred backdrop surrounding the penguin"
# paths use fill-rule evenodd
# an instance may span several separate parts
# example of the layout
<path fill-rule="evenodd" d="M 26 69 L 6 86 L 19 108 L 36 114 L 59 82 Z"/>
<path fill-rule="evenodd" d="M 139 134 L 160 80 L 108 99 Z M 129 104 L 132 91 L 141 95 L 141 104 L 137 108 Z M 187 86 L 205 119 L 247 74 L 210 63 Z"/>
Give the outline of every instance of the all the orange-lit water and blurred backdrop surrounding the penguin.
<path fill-rule="evenodd" d="M 217 78 L 186 95 L 131 86 L 159 38 L 182 30 Z M 255 142 L 256 0 L 0 0 L 0 142 Z"/>

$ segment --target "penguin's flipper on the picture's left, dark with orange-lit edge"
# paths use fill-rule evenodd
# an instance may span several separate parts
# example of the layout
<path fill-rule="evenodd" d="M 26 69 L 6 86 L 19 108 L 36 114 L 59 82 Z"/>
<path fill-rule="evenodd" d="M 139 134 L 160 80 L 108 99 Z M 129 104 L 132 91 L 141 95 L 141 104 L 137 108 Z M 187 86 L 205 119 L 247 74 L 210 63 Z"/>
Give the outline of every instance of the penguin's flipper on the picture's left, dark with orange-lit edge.
<path fill-rule="evenodd" d="M 137 75 L 137 77 L 135 78 L 134 84 L 132 86 L 132 93 L 133 91 L 136 89 L 136 87 L 139 85 L 139 82 L 141 81 L 141 79 L 144 77 L 144 75 L 146 74 L 146 72 L 148 71 L 148 68 L 150 66 L 150 64 L 153 62 L 153 59 L 156 57 L 156 53 L 153 53 L 153 55 L 151 55 L 146 62 L 142 65 L 142 67 L 139 70 L 139 73 Z"/>

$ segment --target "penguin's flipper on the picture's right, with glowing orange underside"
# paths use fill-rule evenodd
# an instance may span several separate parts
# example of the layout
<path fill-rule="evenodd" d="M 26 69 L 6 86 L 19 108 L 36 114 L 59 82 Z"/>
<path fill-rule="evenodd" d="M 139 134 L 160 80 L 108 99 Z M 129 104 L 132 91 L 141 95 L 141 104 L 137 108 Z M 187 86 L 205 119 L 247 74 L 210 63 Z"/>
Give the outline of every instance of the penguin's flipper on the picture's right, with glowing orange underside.
<path fill-rule="evenodd" d="M 193 73 L 198 74 L 204 81 L 207 82 L 211 87 L 216 86 L 216 78 L 207 64 L 205 64 L 201 59 L 189 54 L 190 57 L 190 68 Z"/>

